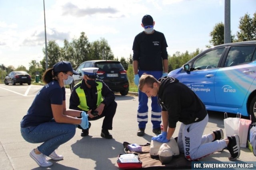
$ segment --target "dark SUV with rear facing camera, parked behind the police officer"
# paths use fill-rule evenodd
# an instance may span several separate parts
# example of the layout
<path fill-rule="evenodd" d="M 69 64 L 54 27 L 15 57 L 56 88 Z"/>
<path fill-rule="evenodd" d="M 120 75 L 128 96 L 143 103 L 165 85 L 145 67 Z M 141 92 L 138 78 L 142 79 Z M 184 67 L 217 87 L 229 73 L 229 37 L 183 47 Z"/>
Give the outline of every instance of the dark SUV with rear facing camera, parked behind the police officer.
<path fill-rule="evenodd" d="M 123 96 L 128 94 L 129 82 L 126 70 L 124 70 L 124 67 L 119 61 L 111 60 L 92 60 L 80 64 L 76 71 L 81 73 L 81 75 L 73 75 L 74 82 L 70 84 L 70 90 L 82 80 L 84 74 L 81 69 L 88 67 L 99 68 L 97 72 L 98 79 L 103 80 L 113 92 L 120 92 Z"/>

